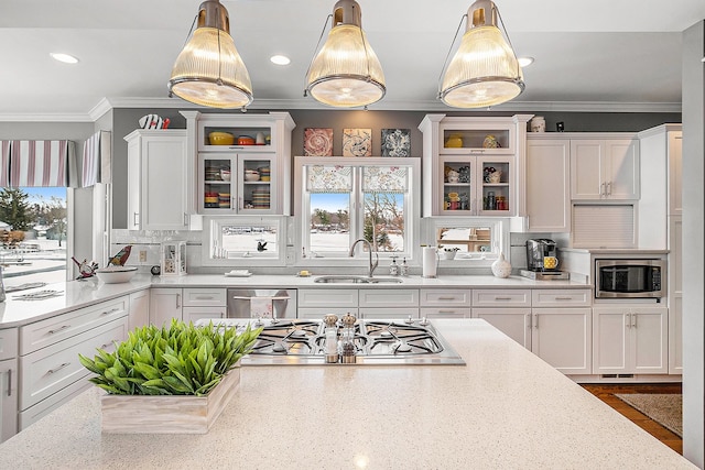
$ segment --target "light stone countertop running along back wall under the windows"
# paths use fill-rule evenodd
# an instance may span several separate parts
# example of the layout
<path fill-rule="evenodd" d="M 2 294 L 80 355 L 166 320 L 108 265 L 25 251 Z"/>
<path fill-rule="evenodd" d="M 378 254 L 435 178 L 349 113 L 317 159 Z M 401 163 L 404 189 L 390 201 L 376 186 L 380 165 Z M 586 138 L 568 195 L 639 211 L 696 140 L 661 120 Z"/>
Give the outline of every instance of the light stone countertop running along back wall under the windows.
<path fill-rule="evenodd" d="M 377 276 L 384 277 L 384 276 Z M 28 291 L 9 293 L 0 303 L 0 329 L 26 325 L 80 307 L 150 287 L 272 287 L 276 288 L 592 288 L 572 281 L 532 281 L 520 276 L 499 278 L 489 275 L 442 275 L 436 278 L 421 276 L 402 277 L 401 284 L 323 284 L 316 275 L 252 275 L 227 277 L 223 274 L 187 274 L 184 276 L 150 276 L 140 274 L 128 283 L 105 284 L 97 278 L 48 284 Z M 42 300 L 20 300 L 15 296 L 37 291 L 58 291 L 61 295 Z"/>

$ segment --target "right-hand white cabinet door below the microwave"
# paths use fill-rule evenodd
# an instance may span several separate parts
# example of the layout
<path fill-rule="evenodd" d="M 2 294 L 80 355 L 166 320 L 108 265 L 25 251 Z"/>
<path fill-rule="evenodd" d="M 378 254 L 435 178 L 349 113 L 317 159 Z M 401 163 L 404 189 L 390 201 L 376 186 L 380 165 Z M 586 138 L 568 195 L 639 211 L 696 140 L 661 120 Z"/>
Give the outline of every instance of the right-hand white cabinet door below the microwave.
<path fill-rule="evenodd" d="M 668 373 L 668 321 L 665 307 L 640 307 L 631 311 L 634 373 Z"/>

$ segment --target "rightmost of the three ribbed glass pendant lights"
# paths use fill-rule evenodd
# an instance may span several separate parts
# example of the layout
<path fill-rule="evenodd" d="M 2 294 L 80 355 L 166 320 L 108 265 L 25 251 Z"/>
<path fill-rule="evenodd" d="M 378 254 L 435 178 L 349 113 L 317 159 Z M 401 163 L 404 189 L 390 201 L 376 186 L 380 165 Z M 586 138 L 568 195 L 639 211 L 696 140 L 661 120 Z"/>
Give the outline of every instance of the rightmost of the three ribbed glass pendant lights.
<path fill-rule="evenodd" d="M 492 1 L 477 0 L 468 9 L 464 17 L 467 25 L 460 46 L 445 68 L 438 87 L 438 98 L 446 105 L 454 108 L 484 108 L 509 101 L 524 90 L 517 55 L 497 28 L 498 17 L 507 35 L 499 10 Z"/>

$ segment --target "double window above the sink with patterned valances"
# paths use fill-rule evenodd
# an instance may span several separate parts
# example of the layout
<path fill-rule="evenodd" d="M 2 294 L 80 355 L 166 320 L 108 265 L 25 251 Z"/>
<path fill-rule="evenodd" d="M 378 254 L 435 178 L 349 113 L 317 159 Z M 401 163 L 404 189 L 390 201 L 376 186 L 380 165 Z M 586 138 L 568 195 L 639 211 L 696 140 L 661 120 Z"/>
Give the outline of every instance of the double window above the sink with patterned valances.
<path fill-rule="evenodd" d="M 417 159 L 296 157 L 300 256 L 348 258 L 364 238 L 381 256 L 411 258 L 419 176 Z"/>

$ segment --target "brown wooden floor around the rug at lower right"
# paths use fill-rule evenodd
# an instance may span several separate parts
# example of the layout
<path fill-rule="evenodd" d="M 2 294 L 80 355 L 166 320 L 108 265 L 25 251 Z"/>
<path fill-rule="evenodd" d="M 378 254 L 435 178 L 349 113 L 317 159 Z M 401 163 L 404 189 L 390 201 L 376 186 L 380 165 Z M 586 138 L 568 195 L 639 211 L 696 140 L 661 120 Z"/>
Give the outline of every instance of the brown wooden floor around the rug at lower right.
<path fill-rule="evenodd" d="M 683 455 L 683 439 L 615 396 L 615 393 L 682 393 L 680 383 L 629 385 L 582 384 L 582 386 L 629 418 L 637 426 L 659 439 L 661 442 L 665 444 L 680 455 Z"/>

